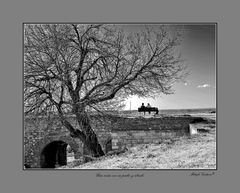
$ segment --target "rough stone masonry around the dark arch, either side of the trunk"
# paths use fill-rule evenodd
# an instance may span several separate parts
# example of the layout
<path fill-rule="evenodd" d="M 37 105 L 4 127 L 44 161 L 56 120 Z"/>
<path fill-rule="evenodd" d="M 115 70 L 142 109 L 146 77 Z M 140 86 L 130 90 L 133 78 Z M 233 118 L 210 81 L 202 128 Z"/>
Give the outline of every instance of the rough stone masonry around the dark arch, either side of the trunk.
<path fill-rule="evenodd" d="M 78 128 L 76 120 L 69 116 L 68 121 Z M 96 132 L 99 143 L 105 149 L 106 143 L 111 139 L 109 120 L 93 118 L 92 127 Z M 83 154 L 83 144 L 79 139 L 72 138 L 69 131 L 61 124 L 57 117 L 26 117 L 24 121 L 24 164 L 39 168 L 41 152 L 44 147 L 54 141 L 67 143 L 74 152 L 74 157 L 79 158 Z"/>

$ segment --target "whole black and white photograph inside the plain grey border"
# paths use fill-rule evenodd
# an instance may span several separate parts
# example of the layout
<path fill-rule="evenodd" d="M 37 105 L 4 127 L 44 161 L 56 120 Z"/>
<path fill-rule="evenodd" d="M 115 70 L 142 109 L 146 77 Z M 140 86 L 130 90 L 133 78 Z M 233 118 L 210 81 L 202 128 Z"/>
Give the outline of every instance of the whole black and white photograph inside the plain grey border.
<path fill-rule="evenodd" d="M 217 23 L 22 33 L 23 170 L 217 169 Z"/>

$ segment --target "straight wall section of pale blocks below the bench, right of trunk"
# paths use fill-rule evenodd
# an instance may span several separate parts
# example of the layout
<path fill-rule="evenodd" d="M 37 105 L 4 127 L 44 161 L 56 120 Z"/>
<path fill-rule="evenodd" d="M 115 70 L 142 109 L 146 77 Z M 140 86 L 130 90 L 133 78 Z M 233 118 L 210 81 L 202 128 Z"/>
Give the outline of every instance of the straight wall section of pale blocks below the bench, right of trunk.
<path fill-rule="evenodd" d="M 123 149 L 137 144 L 156 144 L 176 136 L 189 135 L 189 124 L 197 119 L 199 118 L 182 116 L 119 120 L 111 132 L 112 149 Z"/>

